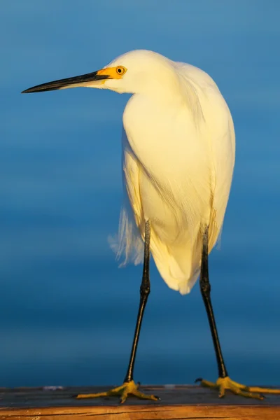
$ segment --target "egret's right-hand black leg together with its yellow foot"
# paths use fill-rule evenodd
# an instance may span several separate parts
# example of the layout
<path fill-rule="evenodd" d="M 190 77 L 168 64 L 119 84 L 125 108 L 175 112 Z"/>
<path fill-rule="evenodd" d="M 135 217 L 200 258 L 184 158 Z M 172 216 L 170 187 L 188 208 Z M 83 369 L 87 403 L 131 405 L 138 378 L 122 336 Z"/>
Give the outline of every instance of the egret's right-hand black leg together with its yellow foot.
<path fill-rule="evenodd" d="M 209 241 L 209 228 L 205 228 L 203 235 L 202 244 L 202 265 L 200 272 L 200 290 L 204 301 L 205 309 L 207 311 L 207 317 L 210 325 L 211 335 L 214 343 L 216 359 L 218 363 L 218 380 L 216 382 L 205 381 L 204 379 L 197 379 L 200 381 L 202 386 L 209 388 L 216 388 L 220 391 L 219 397 L 225 395 L 225 390 L 229 389 L 233 393 L 242 395 L 248 398 L 258 398 L 262 400 L 262 393 L 280 393 L 278 389 L 261 388 L 258 386 L 245 386 L 238 384 L 238 382 L 232 381 L 228 376 L 228 372 L 225 368 L 225 362 L 223 360 L 223 353 L 221 350 L 221 344 L 218 338 L 218 330 L 216 327 L 216 321 L 214 317 L 214 311 L 211 304 L 210 291 L 211 286 L 209 282 L 209 270 L 208 270 L 208 241 Z"/>

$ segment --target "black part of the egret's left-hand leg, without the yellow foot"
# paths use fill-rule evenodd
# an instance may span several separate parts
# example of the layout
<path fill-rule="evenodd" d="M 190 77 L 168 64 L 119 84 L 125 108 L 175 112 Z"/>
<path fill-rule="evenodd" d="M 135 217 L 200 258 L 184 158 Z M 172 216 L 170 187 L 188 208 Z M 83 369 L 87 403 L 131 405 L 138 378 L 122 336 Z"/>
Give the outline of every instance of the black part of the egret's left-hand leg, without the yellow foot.
<path fill-rule="evenodd" d="M 130 363 L 127 368 L 127 374 L 125 375 L 125 382 L 130 382 L 133 380 L 133 370 L 135 363 L 135 356 L 137 353 L 137 345 L 139 341 L 139 335 L 141 330 L 141 323 L 144 315 L 144 310 L 148 300 L 148 295 L 150 294 L 150 276 L 149 276 L 149 266 L 150 266 L 150 237 L 151 237 L 151 227 L 150 222 L 146 221 L 145 224 L 145 250 L 144 250 L 144 269 L 143 277 L 140 286 L 140 304 L 137 316 L 137 323 L 134 332 L 134 339 L 132 343 L 132 351 L 130 353 Z"/>

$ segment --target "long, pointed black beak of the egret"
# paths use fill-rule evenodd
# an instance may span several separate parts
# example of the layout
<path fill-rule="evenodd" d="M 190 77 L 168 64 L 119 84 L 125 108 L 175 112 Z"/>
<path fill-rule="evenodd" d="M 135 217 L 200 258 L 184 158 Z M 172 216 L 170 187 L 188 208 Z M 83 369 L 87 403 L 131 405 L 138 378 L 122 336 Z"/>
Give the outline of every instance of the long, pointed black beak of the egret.
<path fill-rule="evenodd" d="M 69 77 L 66 79 L 55 80 L 53 82 L 43 83 L 42 85 L 29 87 L 29 89 L 24 90 L 22 93 L 47 92 L 48 90 L 59 90 L 67 89 L 67 87 L 85 86 L 86 83 L 108 78 L 110 78 L 109 75 L 99 74 L 99 71 L 94 71 L 93 73 L 83 74 L 82 76 Z"/>

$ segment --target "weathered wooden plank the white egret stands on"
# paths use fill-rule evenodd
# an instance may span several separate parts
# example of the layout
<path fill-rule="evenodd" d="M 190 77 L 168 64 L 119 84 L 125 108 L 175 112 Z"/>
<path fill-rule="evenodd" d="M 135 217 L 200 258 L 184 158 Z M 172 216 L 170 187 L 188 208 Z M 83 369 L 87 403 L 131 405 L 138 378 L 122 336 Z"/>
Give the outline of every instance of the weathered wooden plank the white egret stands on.
<path fill-rule="evenodd" d="M 108 387 L 0 388 L 0 419 L 10 420 L 280 420 L 280 395 L 251 400 L 200 386 L 142 386 L 160 396 L 159 402 L 129 398 L 120 405 L 118 398 L 75 400 L 77 393 L 105 391 Z"/>

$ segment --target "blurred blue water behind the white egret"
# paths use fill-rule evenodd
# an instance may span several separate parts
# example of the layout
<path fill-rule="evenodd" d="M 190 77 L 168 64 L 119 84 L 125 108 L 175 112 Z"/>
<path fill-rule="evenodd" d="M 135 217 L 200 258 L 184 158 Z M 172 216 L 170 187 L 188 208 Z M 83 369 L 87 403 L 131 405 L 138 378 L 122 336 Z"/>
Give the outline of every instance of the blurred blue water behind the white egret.
<path fill-rule="evenodd" d="M 270 8 L 269 8 L 270 7 Z M 156 50 L 209 72 L 235 120 L 237 162 L 214 309 L 228 370 L 280 383 L 280 3 L 14 0 L 1 7 L 1 386 L 123 380 L 141 267 L 118 269 L 107 244 L 122 202 L 127 96 L 20 91 Z M 216 378 L 198 285 L 181 297 L 155 266 L 135 379 Z"/>

